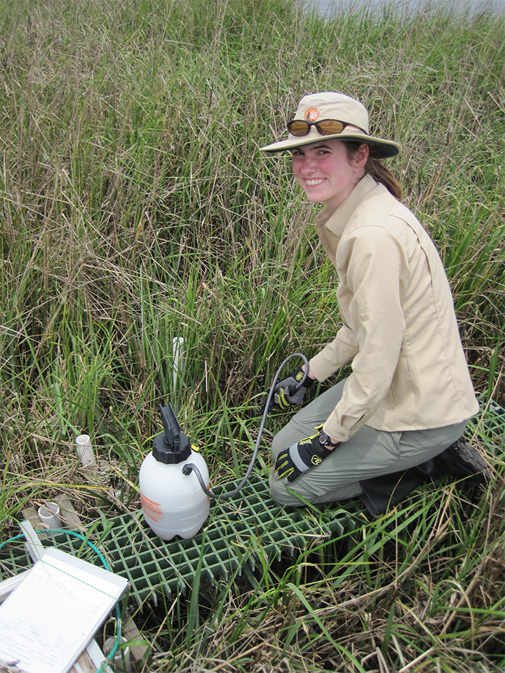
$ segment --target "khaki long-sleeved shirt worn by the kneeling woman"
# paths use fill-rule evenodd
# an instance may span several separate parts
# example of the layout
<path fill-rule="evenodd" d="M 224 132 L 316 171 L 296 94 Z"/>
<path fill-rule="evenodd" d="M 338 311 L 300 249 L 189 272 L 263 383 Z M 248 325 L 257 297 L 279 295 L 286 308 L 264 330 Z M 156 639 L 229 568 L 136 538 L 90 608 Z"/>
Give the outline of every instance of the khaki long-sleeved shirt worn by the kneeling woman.
<path fill-rule="evenodd" d="M 325 433 L 345 441 L 365 423 L 424 430 L 476 414 L 443 264 L 410 210 L 366 175 L 316 229 L 337 268 L 344 325 L 310 366 L 323 381 L 352 361 Z"/>

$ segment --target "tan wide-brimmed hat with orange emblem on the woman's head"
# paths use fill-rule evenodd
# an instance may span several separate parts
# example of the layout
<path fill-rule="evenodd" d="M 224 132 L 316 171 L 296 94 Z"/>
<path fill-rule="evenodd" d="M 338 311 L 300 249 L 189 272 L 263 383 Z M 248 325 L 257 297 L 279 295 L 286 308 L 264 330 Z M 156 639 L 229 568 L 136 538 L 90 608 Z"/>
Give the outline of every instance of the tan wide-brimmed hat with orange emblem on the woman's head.
<path fill-rule="evenodd" d="M 316 123 L 328 119 L 341 121 L 346 126 L 341 132 L 331 133 L 330 131 L 329 135 L 322 135 L 318 132 Z M 396 156 L 401 151 L 401 145 L 397 142 L 369 135 L 367 109 L 360 102 L 343 93 L 325 91 L 304 96 L 299 102 L 295 120 L 309 122 L 307 135 L 299 136 L 290 133 L 287 140 L 273 142 L 260 149 L 264 152 L 281 152 L 285 149 L 321 142 L 323 138 L 327 140 L 338 138 L 372 145 L 380 158 Z"/>

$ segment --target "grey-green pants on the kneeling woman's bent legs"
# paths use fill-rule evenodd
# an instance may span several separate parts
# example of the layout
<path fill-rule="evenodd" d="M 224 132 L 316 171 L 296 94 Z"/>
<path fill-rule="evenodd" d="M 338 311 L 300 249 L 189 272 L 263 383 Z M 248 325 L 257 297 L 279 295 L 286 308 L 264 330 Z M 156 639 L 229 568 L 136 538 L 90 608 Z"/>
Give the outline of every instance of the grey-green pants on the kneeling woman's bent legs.
<path fill-rule="evenodd" d="M 314 435 L 315 426 L 324 423 L 342 396 L 345 381 L 326 390 L 314 402 L 292 417 L 275 435 L 271 451 L 274 457 L 281 449 Z M 328 503 L 363 494 L 360 481 L 389 475 L 420 465 L 438 456 L 464 433 L 466 421 L 444 428 L 403 430 L 389 433 L 361 428 L 347 442 L 342 442 L 322 463 L 285 484 L 270 475 L 271 496 L 283 505 L 300 505 L 301 498 L 311 503 Z M 289 490 L 288 490 L 289 489 Z"/>

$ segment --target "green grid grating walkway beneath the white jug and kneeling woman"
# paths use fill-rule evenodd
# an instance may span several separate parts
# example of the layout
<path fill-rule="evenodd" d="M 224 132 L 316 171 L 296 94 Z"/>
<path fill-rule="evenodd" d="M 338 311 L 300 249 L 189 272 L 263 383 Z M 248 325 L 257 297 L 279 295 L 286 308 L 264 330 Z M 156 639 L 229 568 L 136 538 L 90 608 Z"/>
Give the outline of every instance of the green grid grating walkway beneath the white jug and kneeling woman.
<path fill-rule="evenodd" d="M 478 419 L 469 423 L 476 429 Z M 480 426 L 490 442 L 505 438 L 505 409 L 494 403 Z M 238 482 L 225 484 L 217 493 L 233 491 Z M 283 552 L 295 555 L 317 538 L 339 535 L 353 529 L 362 511 L 358 501 L 346 502 L 346 509 L 335 505 L 318 508 L 285 509 L 271 500 L 267 480 L 252 475 L 231 501 L 212 501 L 210 515 L 202 531 L 190 540 L 163 541 L 145 524 L 142 512 L 122 515 L 107 522 L 105 529 L 93 528 L 92 541 L 105 554 L 115 573 L 128 579 L 130 598 L 138 604 L 162 590 L 168 597 L 191 587 L 198 564 L 200 576 L 210 583 L 226 580 L 233 571 L 247 564 L 255 569 L 262 557 L 280 559 Z M 91 563 L 99 564 L 95 553 L 79 540 L 62 533 L 43 542 L 57 545 Z M 0 577 L 16 575 L 32 565 L 22 543 L 6 545 L 0 552 Z"/>

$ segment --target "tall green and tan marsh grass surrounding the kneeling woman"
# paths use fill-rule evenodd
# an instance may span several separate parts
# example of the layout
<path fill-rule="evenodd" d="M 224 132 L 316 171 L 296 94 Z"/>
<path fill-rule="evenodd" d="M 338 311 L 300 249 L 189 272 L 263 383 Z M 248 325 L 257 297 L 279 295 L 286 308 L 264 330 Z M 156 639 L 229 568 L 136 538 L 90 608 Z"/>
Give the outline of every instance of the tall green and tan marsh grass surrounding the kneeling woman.
<path fill-rule="evenodd" d="M 361 98 L 372 131 L 403 144 L 389 165 L 440 250 L 476 390 L 505 406 L 503 18 L 11 0 L 0 25 L 4 536 L 25 504 L 64 489 L 90 519 L 96 498 L 136 508 L 162 399 L 213 483 L 241 473 L 278 364 L 339 324 L 313 209 L 288 160 L 258 152 L 309 91 Z M 79 470 L 81 432 L 113 477 Z M 493 447 L 480 501 L 428 486 L 291 564 L 137 616 L 152 670 L 502 669 L 503 440 Z"/>

